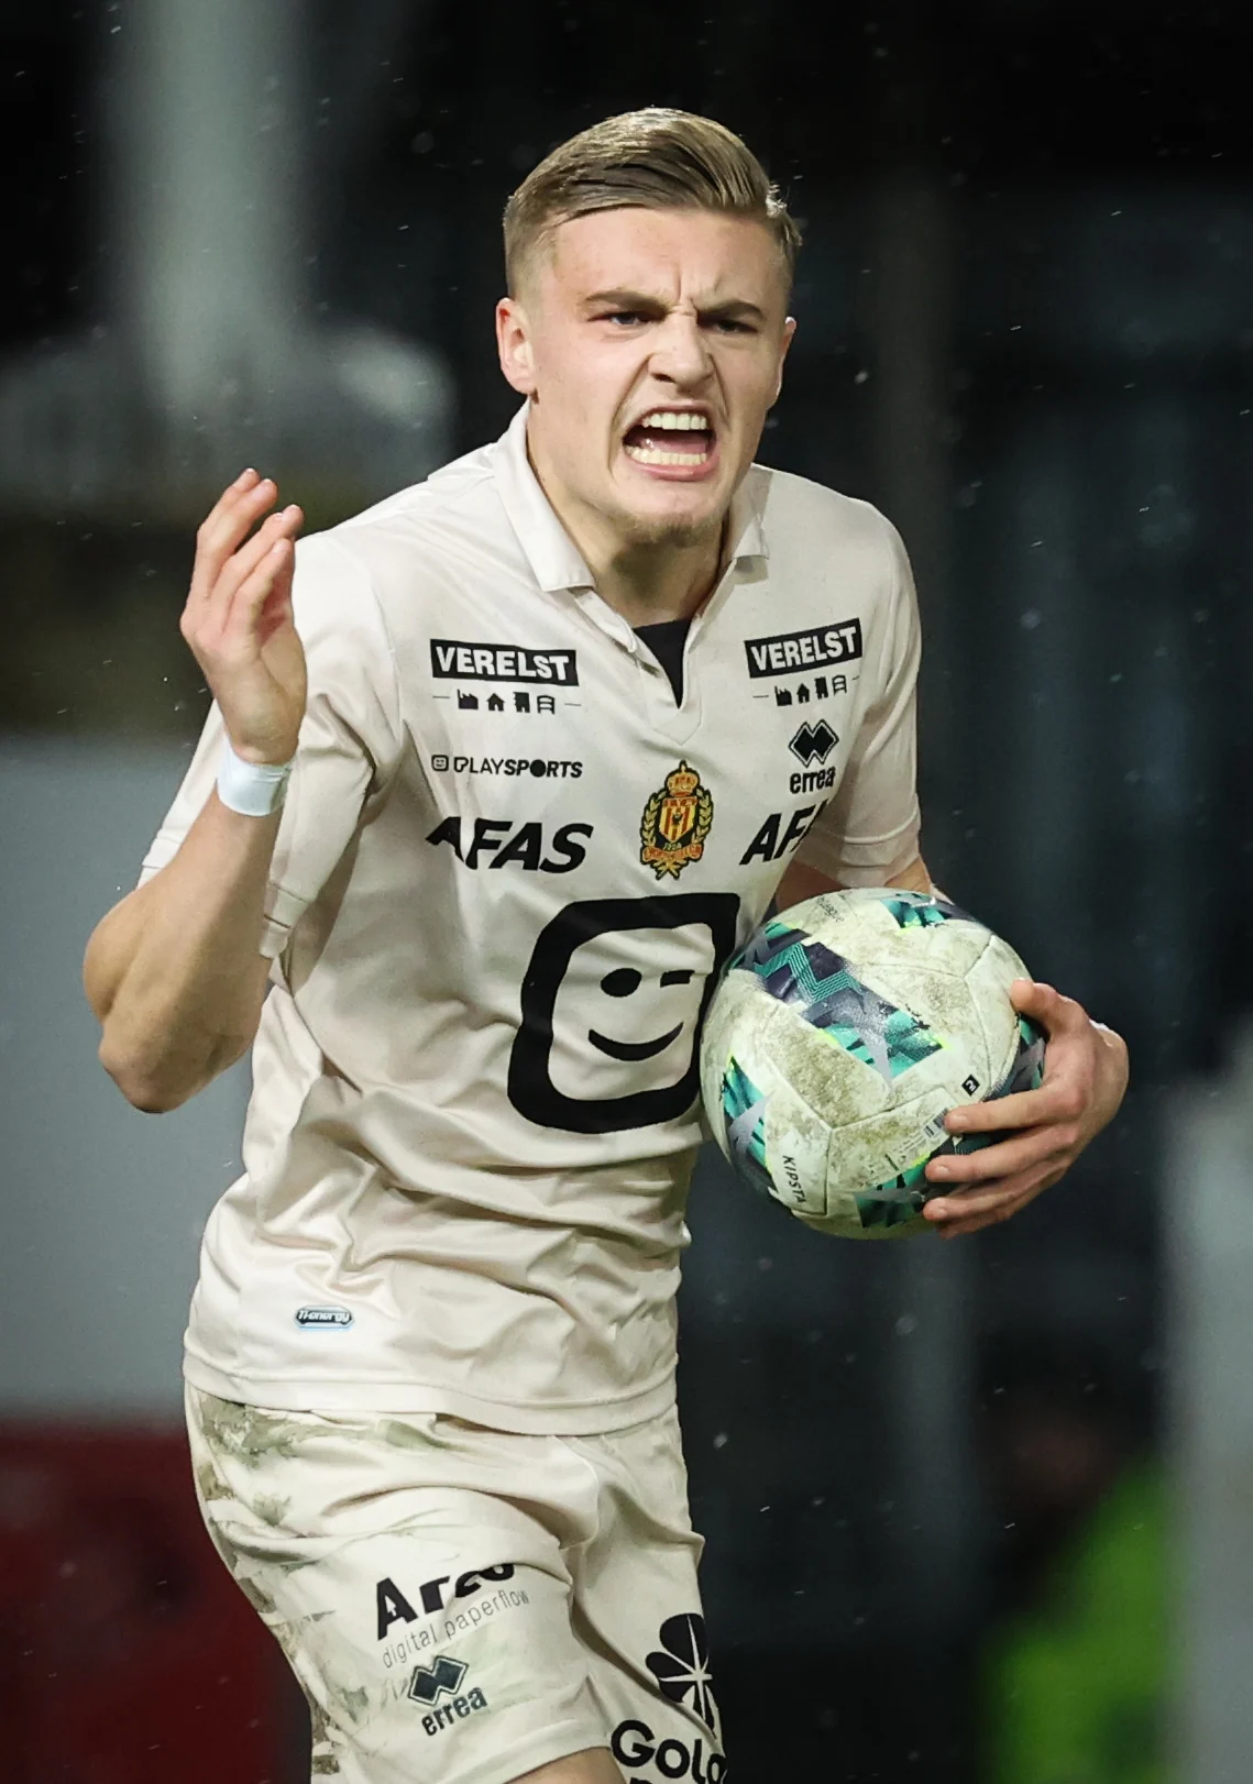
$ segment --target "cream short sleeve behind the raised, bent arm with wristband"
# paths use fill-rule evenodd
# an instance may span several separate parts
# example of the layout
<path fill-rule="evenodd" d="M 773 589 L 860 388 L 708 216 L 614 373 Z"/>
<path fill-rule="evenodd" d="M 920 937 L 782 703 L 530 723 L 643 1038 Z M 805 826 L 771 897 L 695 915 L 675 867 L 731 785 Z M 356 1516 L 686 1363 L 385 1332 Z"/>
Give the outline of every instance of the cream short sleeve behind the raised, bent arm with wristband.
<path fill-rule="evenodd" d="M 305 648 L 309 698 L 266 894 L 262 954 L 277 960 L 402 753 L 400 685 L 378 598 L 364 567 L 330 535 L 296 546 L 293 614 Z M 214 705 L 152 847 L 145 885 L 178 853 L 212 792 L 225 726 Z"/>

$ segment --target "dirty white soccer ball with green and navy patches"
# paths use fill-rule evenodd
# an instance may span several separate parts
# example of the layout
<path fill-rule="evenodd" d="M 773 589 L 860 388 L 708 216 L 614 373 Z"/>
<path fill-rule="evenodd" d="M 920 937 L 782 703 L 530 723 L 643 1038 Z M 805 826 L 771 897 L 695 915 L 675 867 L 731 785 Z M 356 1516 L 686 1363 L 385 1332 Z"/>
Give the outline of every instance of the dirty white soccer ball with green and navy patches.
<path fill-rule="evenodd" d="M 926 1231 L 923 1176 L 955 1138 L 944 1115 L 1032 1090 L 1044 1035 L 1008 987 L 1014 949 L 942 897 L 862 887 L 794 904 L 728 963 L 700 1076 L 737 1176 L 844 1238 Z"/>

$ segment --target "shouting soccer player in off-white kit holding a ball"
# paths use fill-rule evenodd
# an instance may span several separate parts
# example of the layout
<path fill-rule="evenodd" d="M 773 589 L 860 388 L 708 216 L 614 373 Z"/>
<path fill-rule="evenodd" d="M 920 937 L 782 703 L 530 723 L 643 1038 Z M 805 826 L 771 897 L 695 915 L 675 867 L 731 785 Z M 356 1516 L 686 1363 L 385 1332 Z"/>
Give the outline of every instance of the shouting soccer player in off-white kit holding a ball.
<path fill-rule="evenodd" d="M 344 1784 L 725 1775 L 673 1388 L 696 1031 L 771 897 L 930 887 L 901 542 L 753 464 L 796 246 L 718 123 L 596 125 L 505 212 L 505 437 L 298 548 L 245 471 L 198 533 L 214 706 L 86 981 L 137 1108 L 253 1047 L 195 1477 Z M 1019 994 L 1044 1085 L 951 1119 L 1010 1136 L 942 1161 L 942 1233 L 1123 1095 L 1117 1037 Z"/>

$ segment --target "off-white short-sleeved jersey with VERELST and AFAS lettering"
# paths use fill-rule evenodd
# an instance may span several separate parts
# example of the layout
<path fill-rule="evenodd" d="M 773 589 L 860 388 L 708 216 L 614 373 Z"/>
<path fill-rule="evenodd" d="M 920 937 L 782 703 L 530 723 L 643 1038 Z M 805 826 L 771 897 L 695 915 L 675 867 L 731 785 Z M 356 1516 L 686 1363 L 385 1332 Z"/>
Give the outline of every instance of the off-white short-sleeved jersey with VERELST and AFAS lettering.
<path fill-rule="evenodd" d="M 195 1386 L 553 1434 L 669 1404 L 714 978 L 794 855 L 873 885 L 917 847 L 898 535 L 753 467 L 728 542 L 682 701 L 594 592 L 525 410 L 298 546 L 309 708 Z M 145 878 L 220 746 L 212 712 Z"/>

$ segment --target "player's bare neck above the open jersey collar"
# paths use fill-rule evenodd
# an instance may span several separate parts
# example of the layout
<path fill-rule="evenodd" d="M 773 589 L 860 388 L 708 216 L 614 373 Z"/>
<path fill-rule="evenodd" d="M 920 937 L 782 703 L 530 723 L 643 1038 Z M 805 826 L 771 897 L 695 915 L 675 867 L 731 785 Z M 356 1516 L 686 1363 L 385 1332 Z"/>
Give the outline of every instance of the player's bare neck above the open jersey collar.
<path fill-rule="evenodd" d="M 528 441 L 530 467 L 557 519 L 593 573 L 596 594 L 632 626 L 691 619 L 721 569 L 726 521 L 696 539 L 623 539 L 610 521 L 578 501 Z"/>

